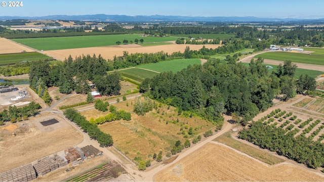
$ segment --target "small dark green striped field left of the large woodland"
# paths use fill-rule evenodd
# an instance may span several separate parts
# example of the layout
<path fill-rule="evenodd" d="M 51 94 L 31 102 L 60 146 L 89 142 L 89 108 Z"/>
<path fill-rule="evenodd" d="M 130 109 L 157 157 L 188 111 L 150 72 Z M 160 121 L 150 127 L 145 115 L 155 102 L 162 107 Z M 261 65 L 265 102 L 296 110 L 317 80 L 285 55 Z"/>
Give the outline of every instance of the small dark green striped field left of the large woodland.
<path fill-rule="evenodd" d="M 143 70 L 139 68 L 131 68 L 118 71 L 121 76 L 133 79 L 137 82 L 142 82 L 145 78 L 153 78 L 153 76 L 159 74 L 153 71 Z"/>

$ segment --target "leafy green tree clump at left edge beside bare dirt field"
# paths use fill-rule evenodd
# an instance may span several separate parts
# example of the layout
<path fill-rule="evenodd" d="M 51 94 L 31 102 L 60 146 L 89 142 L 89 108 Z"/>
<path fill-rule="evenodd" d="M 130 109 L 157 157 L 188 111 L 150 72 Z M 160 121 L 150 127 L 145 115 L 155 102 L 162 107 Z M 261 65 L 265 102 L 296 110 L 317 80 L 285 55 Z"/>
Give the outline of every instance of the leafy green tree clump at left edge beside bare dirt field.
<path fill-rule="evenodd" d="M 3 123 L 5 121 L 16 122 L 26 120 L 28 119 L 28 117 L 38 114 L 38 109 L 41 108 L 42 107 L 35 102 L 31 102 L 27 106 L 21 108 L 17 108 L 16 106 L 9 106 L 8 110 L 5 109 L 0 112 L 0 123 Z"/>

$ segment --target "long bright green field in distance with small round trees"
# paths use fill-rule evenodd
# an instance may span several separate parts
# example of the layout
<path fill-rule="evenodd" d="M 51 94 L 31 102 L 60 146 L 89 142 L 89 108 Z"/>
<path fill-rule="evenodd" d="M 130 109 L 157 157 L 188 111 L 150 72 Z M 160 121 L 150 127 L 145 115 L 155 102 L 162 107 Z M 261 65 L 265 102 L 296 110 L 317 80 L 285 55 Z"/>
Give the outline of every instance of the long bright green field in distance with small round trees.
<path fill-rule="evenodd" d="M 123 43 L 123 40 L 127 39 L 128 41 L 132 40 L 134 42 L 136 38 L 138 40 L 143 38 L 144 43 L 149 43 L 176 40 L 178 37 L 141 37 L 140 34 L 119 34 L 46 38 L 16 38 L 12 40 L 37 50 L 49 51 L 115 45 L 116 41 Z M 139 44 L 141 43 L 139 42 Z"/>

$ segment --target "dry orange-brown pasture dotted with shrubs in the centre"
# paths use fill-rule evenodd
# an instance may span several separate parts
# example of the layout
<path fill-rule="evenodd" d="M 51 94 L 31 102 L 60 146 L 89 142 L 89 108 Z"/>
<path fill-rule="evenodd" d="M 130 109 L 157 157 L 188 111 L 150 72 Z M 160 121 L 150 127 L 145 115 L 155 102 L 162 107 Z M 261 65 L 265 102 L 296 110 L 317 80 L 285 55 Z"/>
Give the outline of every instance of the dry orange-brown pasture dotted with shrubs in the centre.
<path fill-rule="evenodd" d="M 127 102 L 129 106 L 126 106 Z M 133 105 L 131 105 L 131 102 L 133 102 Z M 127 100 L 116 103 L 114 106 L 129 112 L 133 110 L 134 104 L 134 100 Z M 159 151 L 162 151 L 163 156 L 165 156 L 167 152 L 171 151 L 171 146 L 174 146 L 176 141 L 180 140 L 182 144 L 184 143 L 185 135 L 191 141 L 192 137 L 188 135 L 190 127 L 194 130 L 193 135 L 202 135 L 202 133 L 214 127 L 212 123 L 200 117 L 193 116 L 190 118 L 183 115 L 178 116 L 174 107 L 168 109 L 164 105 L 153 109 L 144 116 L 132 113 L 132 120 L 130 121 L 113 121 L 98 125 L 98 127 L 103 132 L 111 134 L 114 146 L 121 153 L 134 162 L 139 162 L 149 159 L 148 156 L 153 156 L 154 153 L 158 154 Z"/>

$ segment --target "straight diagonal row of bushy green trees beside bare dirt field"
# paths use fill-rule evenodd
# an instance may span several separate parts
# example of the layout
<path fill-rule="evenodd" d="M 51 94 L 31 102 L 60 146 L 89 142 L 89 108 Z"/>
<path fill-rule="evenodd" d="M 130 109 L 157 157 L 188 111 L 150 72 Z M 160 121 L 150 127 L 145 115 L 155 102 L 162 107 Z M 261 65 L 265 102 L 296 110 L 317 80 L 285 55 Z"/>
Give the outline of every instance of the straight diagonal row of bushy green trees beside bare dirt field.
<path fill-rule="evenodd" d="M 97 140 L 100 147 L 110 147 L 113 145 L 113 140 L 110 134 L 102 132 L 97 127 L 97 124 L 90 123 L 76 110 L 66 109 L 63 113 L 67 119 L 75 122 L 84 132 L 88 133 L 91 139 Z"/>

